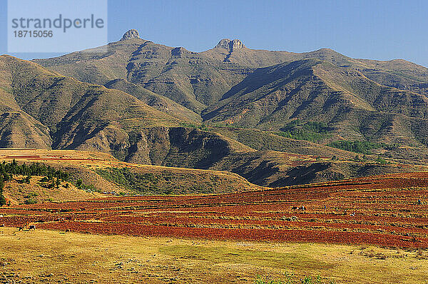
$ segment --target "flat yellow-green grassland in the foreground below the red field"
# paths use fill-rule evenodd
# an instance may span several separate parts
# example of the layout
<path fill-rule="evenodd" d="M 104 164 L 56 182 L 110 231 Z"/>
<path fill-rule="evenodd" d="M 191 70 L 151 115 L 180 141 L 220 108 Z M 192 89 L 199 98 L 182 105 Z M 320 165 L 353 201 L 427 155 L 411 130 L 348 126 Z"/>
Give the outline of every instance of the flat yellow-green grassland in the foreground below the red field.
<path fill-rule="evenodd" d="M 0 283 L 427 283 L 424 250 L 139 238 L 0 228 Z"/>

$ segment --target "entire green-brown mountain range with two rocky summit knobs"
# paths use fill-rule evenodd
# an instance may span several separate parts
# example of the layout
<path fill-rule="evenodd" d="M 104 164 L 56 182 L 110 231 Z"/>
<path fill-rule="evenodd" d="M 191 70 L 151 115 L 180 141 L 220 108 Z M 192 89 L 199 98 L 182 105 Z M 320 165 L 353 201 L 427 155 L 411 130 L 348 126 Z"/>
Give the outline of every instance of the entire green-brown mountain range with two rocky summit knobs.
<path fill-rule="evenodd" d="M 107 49 L 0 56 L 0 147 L 101 151 L 284 186 L 424 166 L 427 96 L 428 69 L 401 59 L 255 50 L 238 39 L 197 53 L 131 31 Z M 307 129 L 317 139 L 296 137 Z M 382 146 L 363 163 L 335 141 Z"/>

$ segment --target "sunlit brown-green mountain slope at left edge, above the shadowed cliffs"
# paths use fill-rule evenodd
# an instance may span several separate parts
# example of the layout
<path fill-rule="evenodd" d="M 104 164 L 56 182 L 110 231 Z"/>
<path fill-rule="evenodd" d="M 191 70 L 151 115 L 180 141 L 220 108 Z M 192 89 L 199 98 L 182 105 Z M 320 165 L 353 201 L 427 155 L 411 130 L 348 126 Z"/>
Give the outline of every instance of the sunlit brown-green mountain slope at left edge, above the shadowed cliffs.
<path fill-rule="evenodd" d="M 1 147 L 77 148 L 106 129 L 179 123 L 128 93 L 81 83 L 30 61 L 0 56 L 0 70 Z"/>

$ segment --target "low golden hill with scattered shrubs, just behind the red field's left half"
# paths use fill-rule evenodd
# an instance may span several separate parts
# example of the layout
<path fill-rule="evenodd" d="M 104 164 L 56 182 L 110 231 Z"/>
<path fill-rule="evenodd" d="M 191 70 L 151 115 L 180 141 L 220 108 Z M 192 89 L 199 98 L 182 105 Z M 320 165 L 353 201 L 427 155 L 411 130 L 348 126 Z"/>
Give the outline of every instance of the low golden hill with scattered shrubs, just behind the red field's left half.
<path fill-rule="evenodd" d="M 29 199 L 38 203 L 78 201 L 111 195 L 235 193 L 263 189 L 238 174 L 193 168 L 142 165 L 118 161 L 93 151 L 0 149 L 0 162 L 43 163 L 68 173 L 58 188 L 44 183 L 42 176 L 14 176 L 4 195 L 13 204 Z M 78 182 L 80 180 L 80 182 Z M 68 185 L 66 185 L 68 183 Z"/>

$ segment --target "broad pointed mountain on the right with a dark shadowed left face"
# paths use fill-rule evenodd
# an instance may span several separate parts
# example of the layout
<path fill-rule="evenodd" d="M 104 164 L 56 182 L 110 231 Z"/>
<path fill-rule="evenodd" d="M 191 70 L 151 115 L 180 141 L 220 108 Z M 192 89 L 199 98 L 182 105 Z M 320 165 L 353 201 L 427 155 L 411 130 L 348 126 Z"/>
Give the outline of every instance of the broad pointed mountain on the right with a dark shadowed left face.
<path fill-rule="evenodd" d="M 426 96 L 317 59 L 257 69 L 203 113 L 210 123 L 270 130 L 324 121 L 337 138 L 425 145 L 427 118 Z"/>

